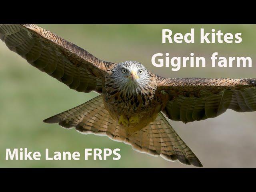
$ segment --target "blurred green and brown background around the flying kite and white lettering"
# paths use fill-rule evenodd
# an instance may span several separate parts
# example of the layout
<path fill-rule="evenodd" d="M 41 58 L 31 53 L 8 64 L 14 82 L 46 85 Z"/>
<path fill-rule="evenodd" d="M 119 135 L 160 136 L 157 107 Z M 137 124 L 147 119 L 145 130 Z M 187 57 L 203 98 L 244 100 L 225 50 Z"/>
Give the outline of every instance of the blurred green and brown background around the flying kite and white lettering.
<path fill-rule="evenodd" d="M 111 62 L 136 60 L 153 73 L 178 77 L 255 78 L 256 25 L 59 25 L 39 24 L 62 38 L 84 48 L 94 56 Z M 195 28 L 194 44 L 162 44 L 162 29 L 185 34 Z M 240 44 L 201 44 L 200 28 L 212 28 L 223 33 L 242 33 Z M 210 58 L 219 56 L 250 56 L 252 68 L 212 68 L 206 60 L 205 68 L 156 68 L 151 64 L 155 53 L 172 56 Z M 107 137 L 82 135 L 74 129 L 66 130 L 58 124 L 45 124 L 43 119 L 70 109 L 97 96 L 79 93 L 30 66 L 20 56 L 0 42 L 0 167 L 193 167 L 168 162 L 160 157 L 140 154 L 131 146 Z M 201 122 L 170 122 L 180 137 L 198 156 L 204 167 L 256 166 L 256 112 L 238 113 L 228 110 L 217 118 Z M 5 160 L 6 148 L 28 148 L 39 151 L 41 160 Z M 120 148 L 121 159 L 112 160 L 44 160 L 44 150 L 78 151 L 84 148 Z"/>

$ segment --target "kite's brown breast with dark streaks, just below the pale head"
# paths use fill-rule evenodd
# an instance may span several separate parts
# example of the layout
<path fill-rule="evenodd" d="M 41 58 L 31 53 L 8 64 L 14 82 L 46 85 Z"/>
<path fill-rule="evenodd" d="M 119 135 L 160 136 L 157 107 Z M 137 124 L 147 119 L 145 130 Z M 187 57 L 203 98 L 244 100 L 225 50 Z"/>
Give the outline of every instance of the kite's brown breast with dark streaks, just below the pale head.
<path fill-rule="evenodd" d="M 121 115 L 128 119 L 136 115 L 140 120 L 156 118 L 155 114 L 162 110 L 167 101 L 156 92 L 156 86 L 148 85 L 144 90 L 129 92 L 119 88 L 112 80 L 106 81 L 103 95 L 105 107 L 115 120 Z"/>

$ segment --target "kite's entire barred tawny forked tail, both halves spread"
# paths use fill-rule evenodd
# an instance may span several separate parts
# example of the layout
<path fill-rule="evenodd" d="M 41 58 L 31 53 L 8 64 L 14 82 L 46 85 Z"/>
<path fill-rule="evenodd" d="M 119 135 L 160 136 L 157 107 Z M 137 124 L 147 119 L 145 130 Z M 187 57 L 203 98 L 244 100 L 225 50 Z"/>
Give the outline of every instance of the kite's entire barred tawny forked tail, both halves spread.
<path fill-rule="evenodd" d="M 68 129 L 74 127 L 82 134 L 108 136 L 112 140 L 130 144 L 134 150 L 141 153 L 202 167 L 196 155 L 182 141 L 161 112 L 154 122 L 128 138 L 126 129 L 113 120 L 105 109 L 102 95 L 54 115 L 44 122 L 58 123 Z"/>

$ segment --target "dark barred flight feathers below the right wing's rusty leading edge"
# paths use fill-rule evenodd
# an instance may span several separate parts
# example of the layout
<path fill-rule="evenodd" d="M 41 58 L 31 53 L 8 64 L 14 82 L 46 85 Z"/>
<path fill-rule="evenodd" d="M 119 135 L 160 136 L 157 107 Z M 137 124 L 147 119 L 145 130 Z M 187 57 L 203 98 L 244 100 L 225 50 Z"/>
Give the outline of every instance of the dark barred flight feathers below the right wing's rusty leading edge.
<path fill-rule="evenodd" d="M 224 89 L 216 94 L 200 90 L 197 97 L 180 95 L 169 100 L 162 112 L 171 120 L 187 123 L 217 117 L 227 109 L 256 111 L 256 87 Z"/>

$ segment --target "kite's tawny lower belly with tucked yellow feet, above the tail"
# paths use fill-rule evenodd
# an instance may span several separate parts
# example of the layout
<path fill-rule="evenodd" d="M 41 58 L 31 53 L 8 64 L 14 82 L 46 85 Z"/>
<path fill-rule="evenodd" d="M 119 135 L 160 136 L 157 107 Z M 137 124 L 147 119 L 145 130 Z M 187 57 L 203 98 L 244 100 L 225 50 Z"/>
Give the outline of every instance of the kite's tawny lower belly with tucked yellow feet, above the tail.
<path fill-rule="evenodd" d="M 104 104 L 110 116 L 126 128 L 129 134 L 133 134 L 155 120 L 163 108 L 164 100 L 146 98 L 144 95 L 129 98 L 105 95 Z"/>

